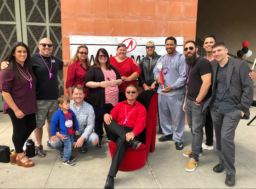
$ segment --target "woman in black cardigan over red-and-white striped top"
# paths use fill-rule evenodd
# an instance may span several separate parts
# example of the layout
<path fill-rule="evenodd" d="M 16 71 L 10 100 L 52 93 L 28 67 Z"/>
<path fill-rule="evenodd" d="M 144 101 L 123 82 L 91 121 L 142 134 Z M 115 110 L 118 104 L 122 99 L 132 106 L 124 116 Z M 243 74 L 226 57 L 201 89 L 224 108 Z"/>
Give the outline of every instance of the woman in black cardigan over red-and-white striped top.
<path fill-rule="evenodd" d="M 103 138 L 103 115 L 108 113 L 118 103 L 118 86 L 122 84 L 120 74 L 116 68 L 110 65 L 110 58 L 105 49 L 99 49 L 94 65 L 90 67 L 85 83 L 88 90 L 88 101 L 92 105 L 95 112 L 95 128 L 94 131 L 99 136 L 99 143 L 96 147 L 102 147 Z M 106 130 L 106 128 L 105 128 Z M 110 138 L 107 133 L 107 142 Z"/>

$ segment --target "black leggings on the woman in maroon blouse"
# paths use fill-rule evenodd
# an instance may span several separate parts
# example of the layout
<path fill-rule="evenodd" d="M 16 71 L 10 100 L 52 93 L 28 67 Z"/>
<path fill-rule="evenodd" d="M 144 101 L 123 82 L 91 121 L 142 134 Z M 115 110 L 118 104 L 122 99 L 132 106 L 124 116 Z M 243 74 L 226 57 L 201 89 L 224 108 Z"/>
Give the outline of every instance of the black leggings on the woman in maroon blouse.
<path fill-rule="evenodd" d="M 11 108 L 8 108 L 6 112 L 9 114 L 12 120 L 12 142 L 15 146 L 15 151 L 16 153 L 22 153 L 24 143 L 36 128 L 36 113 L 29 114 L 21 119 L 18 119 Z"/>

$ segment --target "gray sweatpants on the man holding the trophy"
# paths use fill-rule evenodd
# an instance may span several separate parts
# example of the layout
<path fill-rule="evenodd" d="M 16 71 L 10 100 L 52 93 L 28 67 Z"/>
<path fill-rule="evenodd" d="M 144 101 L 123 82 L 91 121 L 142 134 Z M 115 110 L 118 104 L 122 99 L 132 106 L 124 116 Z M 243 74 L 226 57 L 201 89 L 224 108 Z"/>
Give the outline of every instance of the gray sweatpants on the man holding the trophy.
<path fill-rule="evenodd" d="M 164 135 L 173 134 L 175 142 L 184 142 L 185 112 L 182 110 L 185 93 L 174 96 L 158 95 L 160 124 Z M 175 126 L 172 129 L 172 118 Z"/>

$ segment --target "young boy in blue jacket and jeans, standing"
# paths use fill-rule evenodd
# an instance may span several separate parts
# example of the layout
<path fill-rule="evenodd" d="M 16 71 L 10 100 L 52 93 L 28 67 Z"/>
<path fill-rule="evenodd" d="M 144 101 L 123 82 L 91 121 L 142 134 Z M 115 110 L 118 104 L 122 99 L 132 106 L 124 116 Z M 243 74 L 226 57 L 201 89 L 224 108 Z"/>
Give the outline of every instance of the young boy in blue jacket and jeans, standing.
<path fill-rule="evenodd" d="M 60 152 L 64 165 L 74 165 L 76 158 L 71 156 L 72 145 L 74 143 L 74 132 L 79 133 L 78 121 L 76 115 L 70 110 L 70 99 L 67 96 L 59 96 L 59 110 L 53 115 L 51 122 L 52 142 L 56 142 L 56 131 L 60 134 L 67 135 L 67 139 L 63 139 L 64 151 Z"/>

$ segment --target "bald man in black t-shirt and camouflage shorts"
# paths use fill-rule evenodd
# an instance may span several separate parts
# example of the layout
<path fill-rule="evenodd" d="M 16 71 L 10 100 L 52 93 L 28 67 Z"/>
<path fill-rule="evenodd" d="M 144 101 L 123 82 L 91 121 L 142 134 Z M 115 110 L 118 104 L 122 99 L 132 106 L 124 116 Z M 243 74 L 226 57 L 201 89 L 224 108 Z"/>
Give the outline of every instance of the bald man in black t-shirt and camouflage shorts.
<path fill-rule="evenodd" d="M 50 55 L 53 46 L 52 41 L 48 38 L 42 38 L 38 45 L 39 53 L 31 54 L 32 69 L 36 76 L 36 100 L 38 112 L 36 112 L 36 155 L 44 157 L 45 152 L 42 146 L 43 126 L 47 120 L 48 142 L 50 145 L 50 123 L 53 114 L 58 110 L 58 71 L 63 66 L 68 66 L 69 60 L 59 60 L 56 56 Z M 8 62 L 1 63 L 1 69 L 8 67 Z"/>

